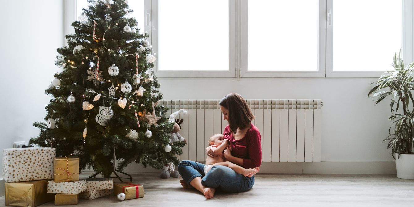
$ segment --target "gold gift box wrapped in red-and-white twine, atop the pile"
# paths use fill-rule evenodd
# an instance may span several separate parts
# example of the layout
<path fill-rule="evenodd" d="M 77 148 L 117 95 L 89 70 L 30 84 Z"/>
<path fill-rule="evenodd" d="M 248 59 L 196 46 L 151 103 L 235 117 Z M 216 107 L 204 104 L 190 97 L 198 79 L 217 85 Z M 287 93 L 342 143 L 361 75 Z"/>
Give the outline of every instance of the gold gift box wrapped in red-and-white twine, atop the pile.
<path fill-rule="evenodd" d="M 55 183 L 79 181 L 79 158 L 77 156 L 55 157 Z"/>

